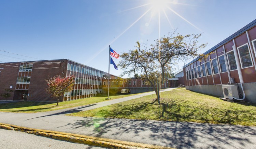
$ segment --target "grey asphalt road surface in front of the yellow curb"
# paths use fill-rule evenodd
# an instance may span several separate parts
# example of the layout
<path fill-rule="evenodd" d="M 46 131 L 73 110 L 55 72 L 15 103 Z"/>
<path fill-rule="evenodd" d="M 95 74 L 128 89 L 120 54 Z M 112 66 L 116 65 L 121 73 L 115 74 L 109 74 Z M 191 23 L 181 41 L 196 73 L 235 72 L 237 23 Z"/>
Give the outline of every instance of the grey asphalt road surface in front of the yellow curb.
<path fill-rule="evenodd" d="M 0 129 L 0 149 L 102 149 L 25 132 Z"/>

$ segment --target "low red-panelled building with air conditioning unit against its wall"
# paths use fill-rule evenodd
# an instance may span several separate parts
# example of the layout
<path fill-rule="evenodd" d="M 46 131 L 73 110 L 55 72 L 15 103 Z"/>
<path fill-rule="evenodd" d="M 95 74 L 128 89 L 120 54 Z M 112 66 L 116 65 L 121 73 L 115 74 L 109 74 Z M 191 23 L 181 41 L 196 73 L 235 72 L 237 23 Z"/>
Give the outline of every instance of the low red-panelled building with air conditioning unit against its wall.
<path fill-rule="evenodd" d="M 204 54 L 210 54 L 205 61 L 195 59 L 184 66 L 186 89 L 219 97 L 237 90 L 231 98 L 256 103 L 256 20 Z M 227 84 L 235 86 L 232 92 L 225 91 Z"/>

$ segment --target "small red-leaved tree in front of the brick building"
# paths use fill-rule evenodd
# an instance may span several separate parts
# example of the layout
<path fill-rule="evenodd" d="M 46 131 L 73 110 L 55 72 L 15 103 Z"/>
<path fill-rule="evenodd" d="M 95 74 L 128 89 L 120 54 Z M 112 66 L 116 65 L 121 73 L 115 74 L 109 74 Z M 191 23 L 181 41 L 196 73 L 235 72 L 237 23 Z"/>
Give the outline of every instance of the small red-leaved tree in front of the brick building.
<path fill-rule="evenodd" d="M 45 80 L 48 87 L 46 92 L 52 94 L 53 97 L 57 98 L 57 105 L 59 103 L 59 98 L 64 95 L 66 92 L 71 92 L 74 86 L 74 77 L 60 77 L 59 75 L 55 77 L 50 77 L 48 80 Z"/>

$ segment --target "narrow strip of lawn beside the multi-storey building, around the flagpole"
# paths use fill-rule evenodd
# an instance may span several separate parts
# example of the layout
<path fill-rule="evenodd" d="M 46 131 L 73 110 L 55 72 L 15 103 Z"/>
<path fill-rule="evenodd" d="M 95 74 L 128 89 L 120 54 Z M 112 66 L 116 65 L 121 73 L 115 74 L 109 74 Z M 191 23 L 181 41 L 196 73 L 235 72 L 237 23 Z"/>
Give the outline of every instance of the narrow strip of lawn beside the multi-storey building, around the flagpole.
<path fill-rule="evenodd" d="M 110 96 L 110 98 L 117 99 L 117 98 L 132 96 L 132 95 L 136 95 L 136 94 L 116 95 L 116 96 Z M 4 103 L 4 104 L 0 104 L 0 112 L 22 112 L 22 113 L 46 112 L 46 111 L 53 111 L 53 110 L 59 110 L 59 109 L 66 109 L 66 108 L 75 107 L 75 106 L 93 104 L 93 103 L 105 101 L 105 98 L 107 97 L 105 96 L 91 97 L 91 98 L 77 99 L 77 100 L 67 101 L 67 102 L 59 102 L 58 106 L 56 106 L 56 103 L 51 103 L 51 102 L 27 101 L 27 102 Z"/>

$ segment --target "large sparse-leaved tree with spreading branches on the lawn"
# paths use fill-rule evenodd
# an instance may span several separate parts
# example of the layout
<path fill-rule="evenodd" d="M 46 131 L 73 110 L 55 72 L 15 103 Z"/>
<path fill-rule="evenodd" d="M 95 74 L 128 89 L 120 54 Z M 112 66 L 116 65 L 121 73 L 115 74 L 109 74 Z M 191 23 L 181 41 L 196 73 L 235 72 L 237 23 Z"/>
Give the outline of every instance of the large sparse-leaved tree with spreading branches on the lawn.
<path fill-rule="evenodd" d="M 170 34 L 156 40 L 155 45 L 150 49 L 137 42 L 137 48 L 124 52 L 120 55 L 122 60 L 118 66 L 124 70 L 122 75 L 139 76 L 137 79 L 145 79 L 153 86 L 157 95 L 157 102 L 160 104 L 160 87 L 165 77 L 170 76 L 172 67 L 177 60 L 186 61 L 189 57 L 200 56 L 199 50 L 207 44 L 197 45 L 201 34 L 180 35 Z"/>

